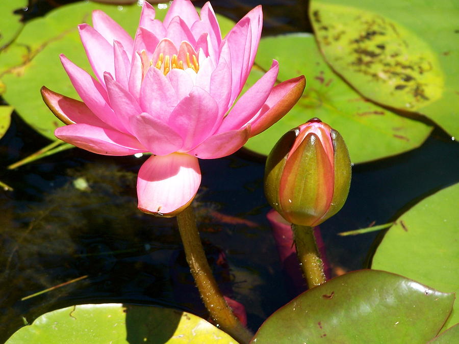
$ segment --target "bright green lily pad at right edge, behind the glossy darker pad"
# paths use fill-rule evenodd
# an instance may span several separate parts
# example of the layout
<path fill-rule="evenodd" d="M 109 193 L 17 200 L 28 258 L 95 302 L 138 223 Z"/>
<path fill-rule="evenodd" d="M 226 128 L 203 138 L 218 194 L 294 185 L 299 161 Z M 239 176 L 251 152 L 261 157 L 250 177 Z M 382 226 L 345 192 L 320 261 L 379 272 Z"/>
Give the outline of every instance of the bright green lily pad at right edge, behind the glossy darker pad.
<path fill-rule="evenodd" d="M 373 256 L 372 268 L 459 291 L 459 183 L 423 199 L 400 216 Z M 445 328 L 459 322 L 457 305 Z"/>

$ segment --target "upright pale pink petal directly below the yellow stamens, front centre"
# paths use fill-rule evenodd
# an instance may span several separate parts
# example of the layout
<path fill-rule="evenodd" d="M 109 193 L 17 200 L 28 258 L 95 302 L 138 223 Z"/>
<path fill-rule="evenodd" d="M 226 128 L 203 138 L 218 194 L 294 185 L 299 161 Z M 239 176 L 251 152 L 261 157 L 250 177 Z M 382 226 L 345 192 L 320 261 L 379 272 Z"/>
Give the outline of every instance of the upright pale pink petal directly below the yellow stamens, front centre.
<path fill-rule="evenodd" d="M 175 90 L 167 77 L 155 67 L 148 69 L 140 88 L 140 107 L 143 112 L 167 121 L 176 104 Z"/>

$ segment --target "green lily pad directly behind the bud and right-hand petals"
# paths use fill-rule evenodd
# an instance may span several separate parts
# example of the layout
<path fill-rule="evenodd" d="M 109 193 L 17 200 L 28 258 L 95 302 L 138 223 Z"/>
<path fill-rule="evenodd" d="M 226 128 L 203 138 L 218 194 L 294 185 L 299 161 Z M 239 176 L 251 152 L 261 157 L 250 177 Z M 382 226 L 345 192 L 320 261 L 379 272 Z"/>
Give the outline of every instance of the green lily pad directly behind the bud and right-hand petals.
<path fill-rule="evenodd" d="M 312 117 L 340 132 L 353 163 L 417 148 L 431 131 L 430 126 L 398 116 L 355 92 L 323 61 L 312 35 L 263 38 L 256 63 L 266 70 L 272 59 L 279 62 L 280 81 L 304 74 L 307 85 L 301 99 L 284 118 L 248 141 L 246 147 L 251 150 L 268 154 L 286 131 Z"/>

